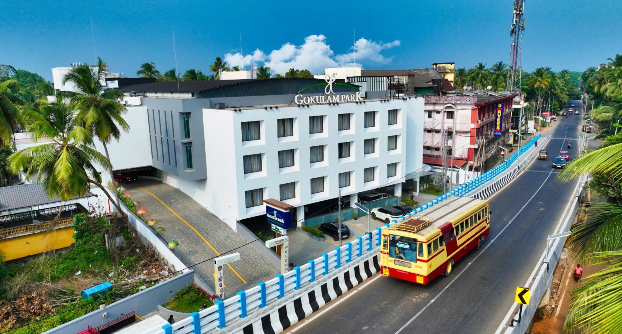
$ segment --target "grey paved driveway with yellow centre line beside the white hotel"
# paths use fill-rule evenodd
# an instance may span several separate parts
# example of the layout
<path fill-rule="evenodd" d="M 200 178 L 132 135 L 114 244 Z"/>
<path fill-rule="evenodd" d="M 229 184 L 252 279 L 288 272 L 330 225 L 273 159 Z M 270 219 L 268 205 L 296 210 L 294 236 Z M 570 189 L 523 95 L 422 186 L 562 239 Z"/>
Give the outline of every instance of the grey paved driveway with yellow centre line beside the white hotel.
<path fill-rule="evenodd" d="M 138 208 L 147 209 L 146 218 L 158 220 L 156 228 L 166 228 L 162 232 L 164 240 L 179 241 L 175 255 L 187 266 L 196 264 L 192 269 L 210 291 L 214 289 L 211 259 L 219 255 L 236 251 L 241 255 L 241 260 L 225 268 L 226 296 L 274 278 L 278 273 L 253 246 L 246 245 L 248 241 L 179 189 L 147 179 L 123 186 L 138 202 Z"/>

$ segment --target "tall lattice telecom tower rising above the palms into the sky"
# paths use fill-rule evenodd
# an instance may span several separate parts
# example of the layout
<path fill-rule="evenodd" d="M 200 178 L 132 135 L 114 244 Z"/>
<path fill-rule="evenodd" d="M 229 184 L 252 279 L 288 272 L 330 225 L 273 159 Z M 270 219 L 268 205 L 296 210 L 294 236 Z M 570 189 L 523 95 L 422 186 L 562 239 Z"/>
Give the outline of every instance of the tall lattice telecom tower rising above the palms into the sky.
<path fill-rule="evenodd" d="M 522 17 L 525 0 L 514 0 L 514 18 L 509 29 L 512 37 L 512 47 L 509 52 L 509 73 L 506 91 L 521 91 L 521 59 L 522 59 L 522 33 L 525 30 L 525 19 Z"/>

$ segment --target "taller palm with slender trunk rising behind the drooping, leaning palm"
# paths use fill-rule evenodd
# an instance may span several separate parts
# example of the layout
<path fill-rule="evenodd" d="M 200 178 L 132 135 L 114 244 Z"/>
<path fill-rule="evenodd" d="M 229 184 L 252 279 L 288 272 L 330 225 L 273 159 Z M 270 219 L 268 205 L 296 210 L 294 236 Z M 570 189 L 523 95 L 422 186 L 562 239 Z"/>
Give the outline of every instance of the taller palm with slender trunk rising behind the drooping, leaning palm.
<path fill-rule="evenodd" d="M 105 83 L 107 66 L 101 58 L 98 57 L 97 61 L 97 66 L 83 64 L 73 67 L 63 78 L 63 84 L 72 83 L 78 91 L 60 91 L 57 96 L 63 101 L 67 99 L 75 107 L 78 111 L 76 119 L 82 122 L 91 137 L 100 140 L 106 153 L 106 159 L 110 161 L 107 144 L 113 139 L 119 140 L 121 130 L 129 131 L 129 125 L 123 119 L 123 114 L 128 112 L 128 109 L 125 109 L 123 104 L 119 102 L 125 97 L 123 92 L 119 89 L 104 91 L 103 83 Z M 114 184 L 112 168 L 109 169 L 109 173 L 116 204 L 118 204 L 119 196 Z"/>

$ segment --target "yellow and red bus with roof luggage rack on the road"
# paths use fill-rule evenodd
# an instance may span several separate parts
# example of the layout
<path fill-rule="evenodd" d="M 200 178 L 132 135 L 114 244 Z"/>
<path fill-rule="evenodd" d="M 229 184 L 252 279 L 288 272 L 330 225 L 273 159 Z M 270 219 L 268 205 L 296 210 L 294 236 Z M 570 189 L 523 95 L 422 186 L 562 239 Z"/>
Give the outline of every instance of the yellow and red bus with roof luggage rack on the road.
<path fill-rule="evenodd" d="M 449 276 L 453 264 L 480 250 L 490 234 L 488 201 L 450 197 L 393 227 L 385 228 L 380 249 L 383 276 L 428 284 Z"/>

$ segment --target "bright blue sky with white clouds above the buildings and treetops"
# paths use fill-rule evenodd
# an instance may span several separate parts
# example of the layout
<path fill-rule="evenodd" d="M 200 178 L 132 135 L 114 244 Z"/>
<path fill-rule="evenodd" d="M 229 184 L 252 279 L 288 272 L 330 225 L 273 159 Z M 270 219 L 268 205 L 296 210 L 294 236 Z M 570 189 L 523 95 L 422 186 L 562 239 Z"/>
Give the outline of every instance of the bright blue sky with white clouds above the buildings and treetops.
<path fill-rule="evenodd" d="M 454 61 L 471 67 L 509 60 L 512 0 L 491 1 L 4 1 L 0 63 L 42 74 L 72 61 L 135 76 L 154 61 L 164 72 L 208 71 L 216 56 L 321 73 L 351 62 L 363 68 L 422 68 Z M 217 8 L 216 8 L 217 7 Z M 522 65 L 582 71 L 622 53 L 620 1 L 527 0 Z M 363 38 L 363 39 L 361 39 Z M 255 50 L 259 50 L 255 52 Z M 248 56 L 254 53 L 253 56 Z"/>

